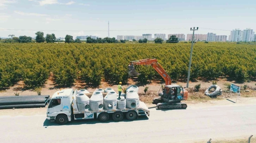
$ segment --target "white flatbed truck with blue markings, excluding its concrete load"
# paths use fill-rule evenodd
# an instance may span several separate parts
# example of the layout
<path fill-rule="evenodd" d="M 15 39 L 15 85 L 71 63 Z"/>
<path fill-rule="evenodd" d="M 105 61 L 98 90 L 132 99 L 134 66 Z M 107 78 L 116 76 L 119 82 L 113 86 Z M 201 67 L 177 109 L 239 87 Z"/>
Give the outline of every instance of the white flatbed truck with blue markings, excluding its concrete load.
<path fill-rule="evenodd" d="M 98 118 L 99 121 L 105 122 L 109 120 L 109 116 L 112 115 L 114 121 L 123 120 L 125 115 L 128 120 L 135 120 L 138 116 L 149 116 L 150 111 L 144 102 L 139 101 L 139 108 L 125 108 L 114 110 L 78 110 L 76 103 L 77 90 L 73 92 L 73 89 L 62 89 L 56 91 L 51 97 L 48 109 L 47 119 L 50 121 L 56 121 L 59 124 L 66 124 L 68 121 L 82 120 L 82 119 L 94 119 Z M 92 94 L 86 94 L 89 98 Z M 105 97 L 106 94 L 103 94 Z"/>

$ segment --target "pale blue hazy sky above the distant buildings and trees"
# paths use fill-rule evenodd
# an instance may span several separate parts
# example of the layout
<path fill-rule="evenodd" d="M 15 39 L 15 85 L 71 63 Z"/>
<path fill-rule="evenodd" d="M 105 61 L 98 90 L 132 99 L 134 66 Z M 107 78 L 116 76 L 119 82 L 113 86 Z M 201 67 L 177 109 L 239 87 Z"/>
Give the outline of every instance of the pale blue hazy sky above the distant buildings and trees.
<path fill-rule="evenodd" d="M 55 33 L 56 37 L 96 35 L 142 35 L 144 33 L 192 33 L 190 27 L 199 27 L 197 34 L 208 32 L 230 35 L 235 28 L 256 31 L 255 0 L 0 0 L 0 36 L 35 36 L 36 31 Z M 171 28 L 171 29 L 165 29 Z M 213 29 L 226 30 L 213 30 Z M 141 30 L 149 29 L 149 30 Z M 158 29 L 158 30 L 156 30 Z M 69 31 L 47 31 L 69 30 Z M 73 31 L 72 31 L 73 30 Z"/>

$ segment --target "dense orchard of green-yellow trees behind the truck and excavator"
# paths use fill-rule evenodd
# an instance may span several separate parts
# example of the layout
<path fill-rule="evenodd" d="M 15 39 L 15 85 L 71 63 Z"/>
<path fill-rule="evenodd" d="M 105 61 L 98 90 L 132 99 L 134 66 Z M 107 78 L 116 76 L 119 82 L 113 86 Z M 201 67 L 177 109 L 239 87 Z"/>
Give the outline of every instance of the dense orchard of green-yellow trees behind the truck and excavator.
<path fill-rule="evenodd" d="M 71 38 L 72 39 L 72 38 Z M 77 40 L 78 41 L 78 40 Z M 98 86 L 128 80 L 129 61 L 156 58 L 172 80 L 186 79 L 190 43 L 144 44 L 0 44 L 0 89 L 24 81 L 27 87 L 43 86 L 50 73 L 57 86 L 76 79 Z M 22 55 L 22 56 L 21 56 Z M 236 81 L 256 78 L 256 45 L 204 43 L 194 45 L 191 79 L 229 77 Z M 136 66 L 139 82 L 162 80 L 151 66 Z"/>

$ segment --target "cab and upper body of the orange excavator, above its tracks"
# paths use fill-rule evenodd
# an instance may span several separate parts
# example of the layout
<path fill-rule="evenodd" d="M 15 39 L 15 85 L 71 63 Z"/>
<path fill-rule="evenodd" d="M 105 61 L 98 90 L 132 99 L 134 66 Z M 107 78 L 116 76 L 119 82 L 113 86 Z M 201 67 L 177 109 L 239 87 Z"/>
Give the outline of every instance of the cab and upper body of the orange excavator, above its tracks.
<path fill-rule="evenodd" d="M 183 88 L 175 84 L 166 86 L 163 91 L 163 99 L 166 103 L 175 103 L 185 100 Z"/>

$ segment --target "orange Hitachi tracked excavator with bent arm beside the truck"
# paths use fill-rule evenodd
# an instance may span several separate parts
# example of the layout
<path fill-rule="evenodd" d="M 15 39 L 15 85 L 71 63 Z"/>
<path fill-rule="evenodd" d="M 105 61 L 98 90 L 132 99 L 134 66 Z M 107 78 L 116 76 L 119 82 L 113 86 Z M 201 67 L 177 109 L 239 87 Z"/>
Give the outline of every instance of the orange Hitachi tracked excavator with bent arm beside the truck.
<path fill-rule="evenodd" d="M 187 100 L 188 91 L 177 84 L 171 85 L 171 77 L 166 73 L 164 68 L 157 62 L 157 59 L 131 61 L 128 66 L 128 74 L 130 76 L 140 75 L 135 70 L 134 65 L 151 65 L 157 71 L 157 73 L 159 73 L 161 77 L 163 77 L 165 81 L 165 87 L 163 88 L 163 92 L 159 93 L 158 98 L 153 99 L 153 103 L 157 104 L 158 109 L 187 108 L 187 104 L 181 101 Z"/>

